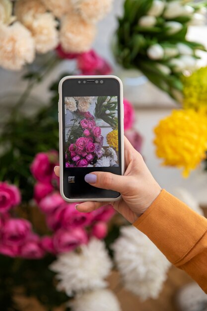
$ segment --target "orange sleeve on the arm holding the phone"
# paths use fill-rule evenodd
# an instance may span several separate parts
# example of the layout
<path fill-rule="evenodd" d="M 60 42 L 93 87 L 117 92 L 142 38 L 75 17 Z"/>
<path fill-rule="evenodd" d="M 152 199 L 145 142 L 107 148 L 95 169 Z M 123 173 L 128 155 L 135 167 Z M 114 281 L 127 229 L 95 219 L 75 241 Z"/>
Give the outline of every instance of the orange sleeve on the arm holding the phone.
<path fill-rule="evenodd" d="M 207 293 L 207 219 L 162 190 L 133 224 Z"/>

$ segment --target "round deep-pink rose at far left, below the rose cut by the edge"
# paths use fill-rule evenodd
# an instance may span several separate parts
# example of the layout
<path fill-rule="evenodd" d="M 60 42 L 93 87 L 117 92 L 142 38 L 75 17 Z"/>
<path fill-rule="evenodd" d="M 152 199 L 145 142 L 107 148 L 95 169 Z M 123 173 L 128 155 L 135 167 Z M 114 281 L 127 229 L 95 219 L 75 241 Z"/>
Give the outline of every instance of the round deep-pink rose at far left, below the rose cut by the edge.
<path fill-rule="evenodd" d="M 31 224 L 25 219 L 10 218 L 2 228 L 2 241 L 6 245 L 20 245 L 31 233 Z"/>

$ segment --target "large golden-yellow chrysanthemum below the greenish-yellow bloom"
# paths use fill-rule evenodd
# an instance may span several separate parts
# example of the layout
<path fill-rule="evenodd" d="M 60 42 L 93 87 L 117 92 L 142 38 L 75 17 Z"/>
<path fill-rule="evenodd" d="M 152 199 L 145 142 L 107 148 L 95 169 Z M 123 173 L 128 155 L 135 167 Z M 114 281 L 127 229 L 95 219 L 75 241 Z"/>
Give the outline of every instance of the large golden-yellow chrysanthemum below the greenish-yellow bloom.
<path fill-rule="evenodd" d="M 163 165 L 184 168 L 187 177 L 206 157 L 207 116 L 193 109 L 173 110 L 154 129 L 156 155 Z"/>

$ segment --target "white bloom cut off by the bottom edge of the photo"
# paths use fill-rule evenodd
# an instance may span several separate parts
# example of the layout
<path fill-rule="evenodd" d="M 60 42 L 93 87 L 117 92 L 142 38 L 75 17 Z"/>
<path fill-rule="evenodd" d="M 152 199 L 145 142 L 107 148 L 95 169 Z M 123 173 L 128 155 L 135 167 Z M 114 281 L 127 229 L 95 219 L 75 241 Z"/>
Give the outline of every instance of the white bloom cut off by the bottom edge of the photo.
<path fill-rule="evenodd" d="M 77 295 L 69 307 L 72 311 L 121 311 L 117 297 L 106 289 Z"/>

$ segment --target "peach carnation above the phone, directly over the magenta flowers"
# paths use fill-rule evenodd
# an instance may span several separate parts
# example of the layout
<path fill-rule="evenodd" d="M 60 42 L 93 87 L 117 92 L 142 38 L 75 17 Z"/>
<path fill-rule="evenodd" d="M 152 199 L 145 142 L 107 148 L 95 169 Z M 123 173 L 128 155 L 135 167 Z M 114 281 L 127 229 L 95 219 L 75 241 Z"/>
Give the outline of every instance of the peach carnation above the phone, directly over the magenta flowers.
<path fill-rule="evenodd" d="M 61 20 L 60 41 L 66 52 L 82 53 L 90 49 L 96 27 L 78 14 L 67 14 Z"/>

